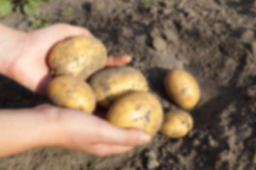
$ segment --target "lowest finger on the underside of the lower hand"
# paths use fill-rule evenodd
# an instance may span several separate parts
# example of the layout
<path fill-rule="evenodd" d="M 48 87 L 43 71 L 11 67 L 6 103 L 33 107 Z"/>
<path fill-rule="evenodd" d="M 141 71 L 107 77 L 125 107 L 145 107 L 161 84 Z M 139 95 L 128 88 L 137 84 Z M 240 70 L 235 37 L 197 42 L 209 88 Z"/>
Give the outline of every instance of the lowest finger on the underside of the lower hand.
<path fill-rule="evenodd" d="M 134 147 L 131 146 L 119 146 L 119 145 L 105 145 L 99 144 L 92 147 L 92 154 L 97 155 L 98 157 L 104 157 L 110 154 L 122 154 L 129 152 Z"/>

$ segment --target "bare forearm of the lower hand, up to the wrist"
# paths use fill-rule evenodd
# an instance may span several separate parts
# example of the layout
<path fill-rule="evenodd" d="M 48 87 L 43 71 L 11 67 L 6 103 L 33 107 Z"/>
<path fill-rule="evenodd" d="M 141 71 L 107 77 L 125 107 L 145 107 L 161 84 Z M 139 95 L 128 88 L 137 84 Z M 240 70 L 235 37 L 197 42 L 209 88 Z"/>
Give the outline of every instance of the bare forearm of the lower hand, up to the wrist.
<path fill-rule="evenodd" d="M 55 125 L 36 109 L 0 111 L 0 157 L 55 145 Z"/>

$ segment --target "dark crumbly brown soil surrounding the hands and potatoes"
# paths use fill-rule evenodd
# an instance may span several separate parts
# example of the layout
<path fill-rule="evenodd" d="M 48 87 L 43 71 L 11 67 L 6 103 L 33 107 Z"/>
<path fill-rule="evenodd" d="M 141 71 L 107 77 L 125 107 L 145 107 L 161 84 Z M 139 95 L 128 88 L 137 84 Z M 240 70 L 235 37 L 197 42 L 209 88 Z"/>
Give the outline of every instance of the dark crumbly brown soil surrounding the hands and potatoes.
<path fill-rule="evenodd" d="M 1 170 L 256 169 L 256 2 L 254 0 L 54 0 L 41 5 L 57 23 L 88 28 L 110 55 L 128 53 L 167 110 L 169 69 L 183 68 L 198 80 L 202 97 L 191 111 L 195 127 L 182 139 L 161 135 L 134 152 L 97 158 L 55 147 L 0 159 Z M 0 22 L 33 30 L 36 17 L 13 13 Z M 1 77 L 0 108 L 49 102 Z"/>

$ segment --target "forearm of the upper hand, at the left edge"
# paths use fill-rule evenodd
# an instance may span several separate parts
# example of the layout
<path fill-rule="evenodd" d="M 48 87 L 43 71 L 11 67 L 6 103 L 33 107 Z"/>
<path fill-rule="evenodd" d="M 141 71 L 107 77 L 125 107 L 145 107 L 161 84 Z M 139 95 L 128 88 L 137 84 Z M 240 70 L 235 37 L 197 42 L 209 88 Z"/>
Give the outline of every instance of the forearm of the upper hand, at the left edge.
<path fill-rule="evenodd" d="M 14 57 L 21 54 L 26 33 L 14 30 L 0 23 L 0 74 L 8 75 Z M 17 44 L 19 46 L 17 47 Z"/>

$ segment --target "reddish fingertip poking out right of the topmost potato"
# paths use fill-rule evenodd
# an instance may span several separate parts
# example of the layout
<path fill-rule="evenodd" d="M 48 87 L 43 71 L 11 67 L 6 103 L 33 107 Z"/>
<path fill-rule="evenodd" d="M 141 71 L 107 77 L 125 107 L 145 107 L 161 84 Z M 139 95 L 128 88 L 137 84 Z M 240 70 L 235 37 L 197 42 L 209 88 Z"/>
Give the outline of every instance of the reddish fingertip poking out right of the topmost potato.
<path fill-rule="evenodd" d="M 119 55 L 117 57 L 108 57 L 106 67 L 120 67 L 128 64 L 132 61 L 132 57 L 130 55 Z"/>

